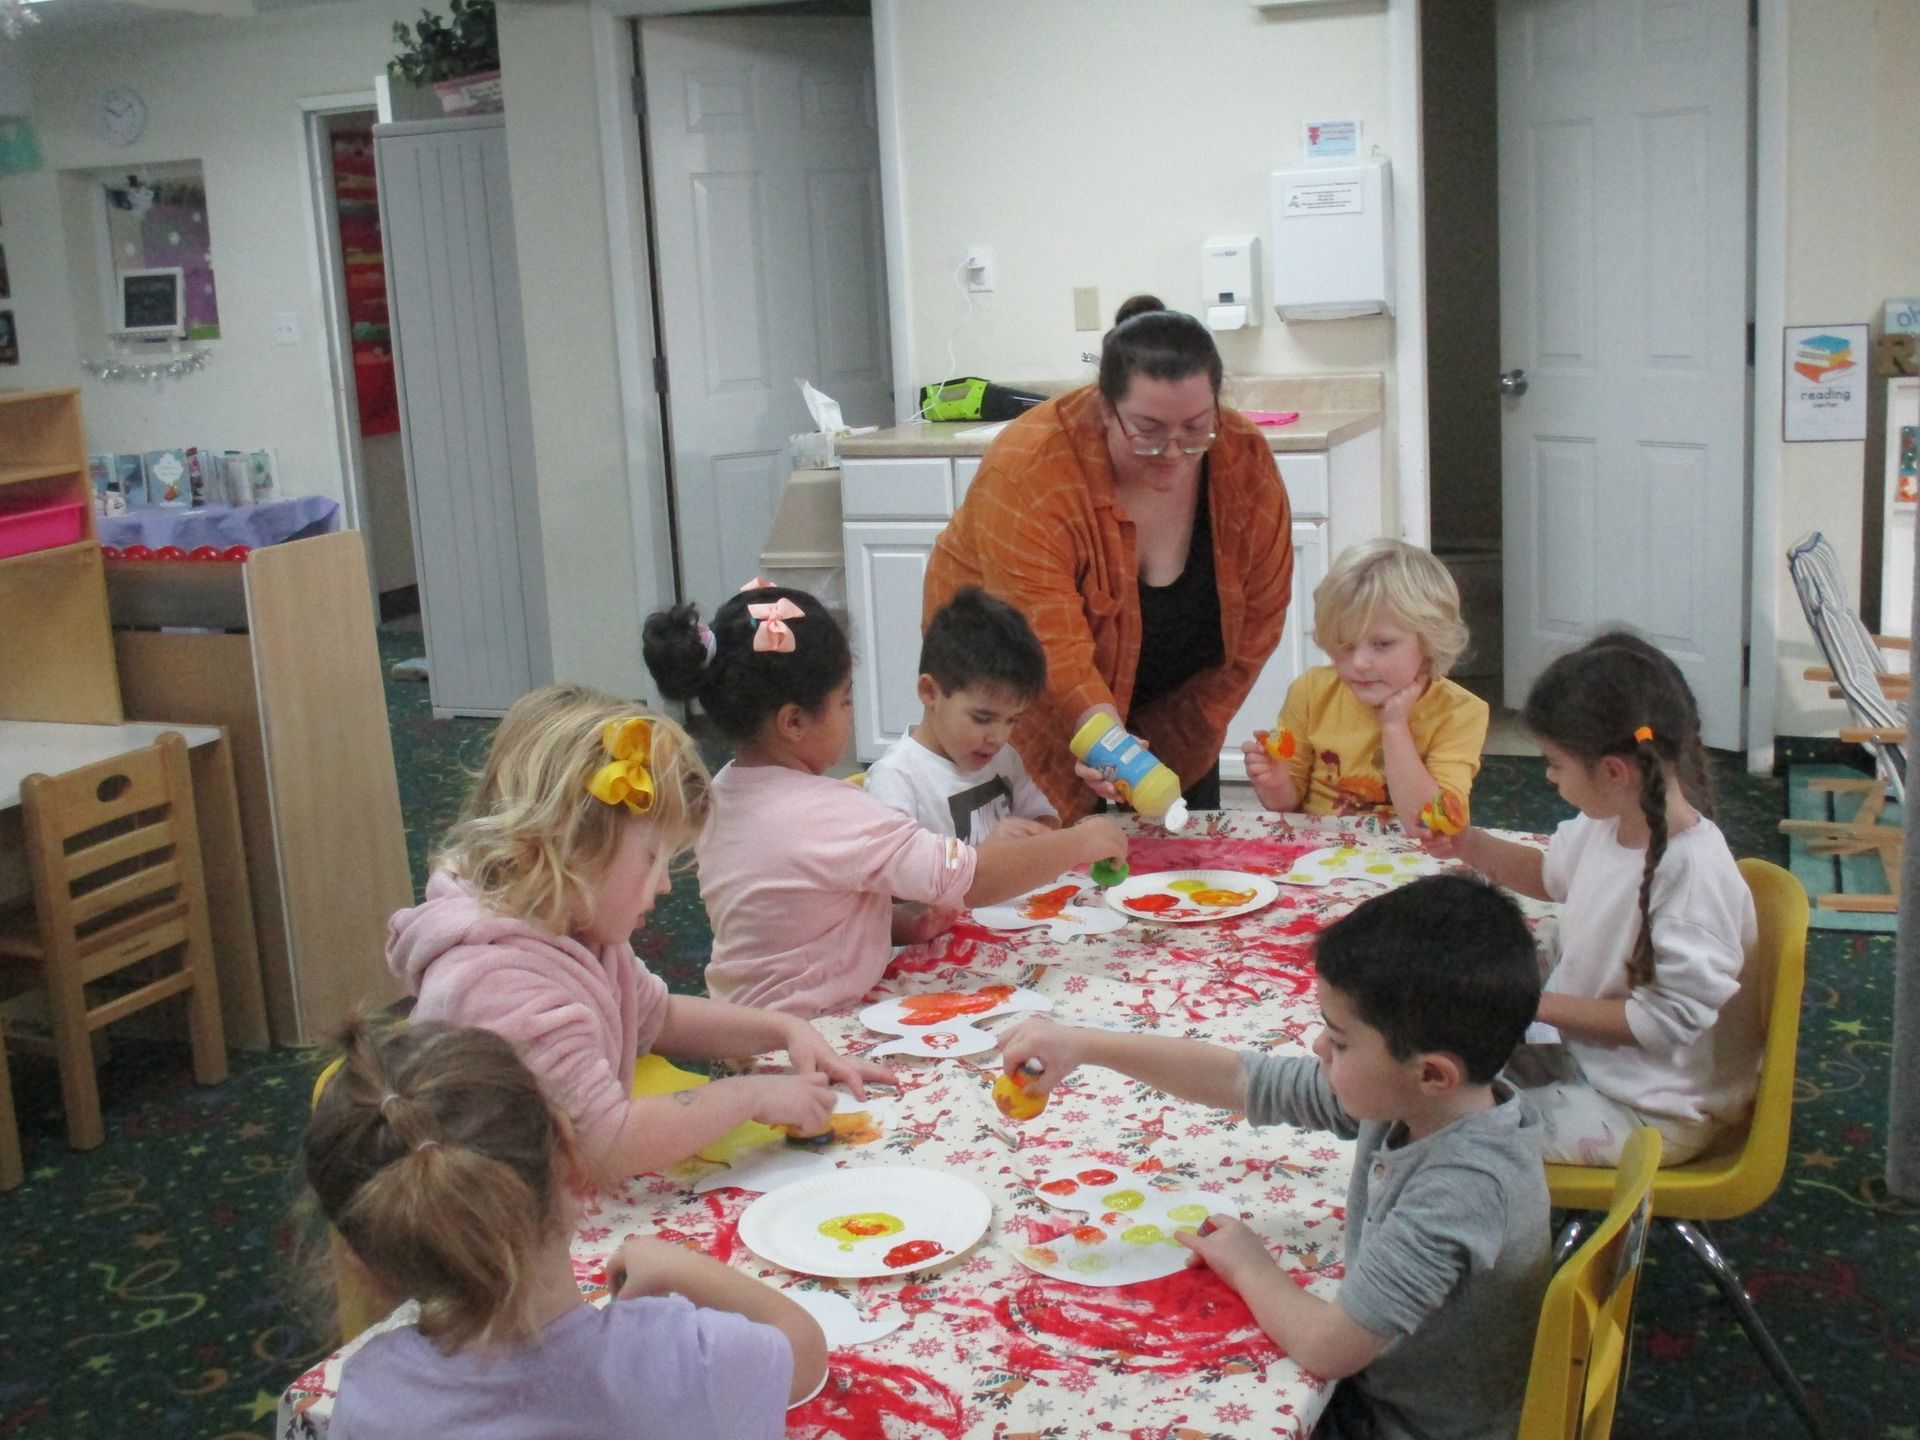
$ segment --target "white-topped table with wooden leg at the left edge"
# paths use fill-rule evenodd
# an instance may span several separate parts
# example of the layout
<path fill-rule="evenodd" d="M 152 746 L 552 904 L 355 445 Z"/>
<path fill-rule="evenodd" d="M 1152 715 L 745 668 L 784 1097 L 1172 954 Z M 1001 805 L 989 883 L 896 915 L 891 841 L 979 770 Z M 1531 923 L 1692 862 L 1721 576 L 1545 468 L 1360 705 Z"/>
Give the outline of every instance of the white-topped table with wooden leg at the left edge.
<path fill-rule="evenodd" d="M 232 756 L 219 726 L 173 726 L 129 720 L 83 726 L 50 720 L 0 720 L 0 900 L 31 895 L 25 835 L 19 820 L 19 781 L 33 774 L 58 776 L 152 745 L 169 730 L 188 745 L 194 776 L 194 818 L 207 879 L 207 925 L 221 987 L 227 1043 L 242 1050 L 267 1048 L 267 1002 L 259 977 L 259 943 L 246 883 L 246 847 L 234 797 Z"/>

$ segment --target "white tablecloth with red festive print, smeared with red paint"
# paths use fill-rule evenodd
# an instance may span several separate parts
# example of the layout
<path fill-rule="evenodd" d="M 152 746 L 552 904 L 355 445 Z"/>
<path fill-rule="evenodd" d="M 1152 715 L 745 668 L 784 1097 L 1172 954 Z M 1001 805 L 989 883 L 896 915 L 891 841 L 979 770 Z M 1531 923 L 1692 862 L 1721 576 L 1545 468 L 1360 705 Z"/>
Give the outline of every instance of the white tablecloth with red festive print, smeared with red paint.
<path fill-rule="evenodd" d="M 1221 812 L 1200 816 L 1181 837 L 1140 826 L 1131 860 L 1137 876 L 1217 868 L 1279 877 L 1332 843 L 1413 849 L 1398 829 L 1369 820 Z M 1283 885 L 1275 904 L 1236 920 L 1137 918 L 1117 933 L 1071 941 L 962 920 L 931 945 L 902 950 L 868 998 L 1025 983 L 1052 998 L 1058 1020 L 1304 1054 L 1319 1023 L 1311 939 L 1373 893 L 1377 883 L 1357 879 Z M 854 1010 L 824 1018 L 822 1029 L 847 1050 L 887 1039 L 864 1029 Z M 989 1027 L 1006 1023 L 1012 1018 Z M 895 1121 L 829 1150 L 847 1164 L 947 1169 L 987 1190 L 993 1225 L 962 1258 L 904 1277 L 795 1275 L 739 1242 L 741 1212 L 756 1196 L 693 1194 L 691 1179 L 714 1167 L 691 1162 L 670 1177 L 636 1177 L 588 1206 L 572 1248 L 582 1290 L 603 1296 L 607 1258 L 628 1235 L 653 1233 L 781 1288 L 839 1290 L 870 1319 L 904 1315 L 893 1334 L 833 1352 L 826 1388 L 789 1413 L 787 1434 L 799 1440 L 1306 1436 L 1327 1384 L 1283 1356 L 1210 1271 L 1092 1288 L 1027 1269 L 1014 1252 L 1058 1236 L 1073 1219 L 1035 1196 L 1033 1177 L 1062 1158 L 1091 1156 L 1116 1173 L 1204 1192 L 1210 1208 L 1246 1217 L 1308 1290 L 1331 1296 L 1342 1275 L 1352 1146 L 1290 1127 L 1254 1131 L 1236 1116 L 1100 1069 L 1079 1071 L 1044 1114 L 1016 1125 L 989 1094 L 995 1054 L 975 1060 L 891 1058 L 902 1081 Z M 284 1440 L 326 1432 L 353 1348 L 288 1388 Z"/>

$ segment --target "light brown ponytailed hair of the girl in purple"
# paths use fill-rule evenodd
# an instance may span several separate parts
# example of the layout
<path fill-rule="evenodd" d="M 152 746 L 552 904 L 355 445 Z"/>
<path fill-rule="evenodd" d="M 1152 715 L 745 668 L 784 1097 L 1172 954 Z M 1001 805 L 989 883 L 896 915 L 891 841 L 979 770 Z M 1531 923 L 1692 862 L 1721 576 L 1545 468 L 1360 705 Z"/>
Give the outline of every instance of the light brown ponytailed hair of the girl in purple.
<path fill-rule="evenodd" d="M 351 1023 L 301 1142 L 326 1219 L 445 1352 L 526 1338 L 559 1127 L 503 1037 Z"/>

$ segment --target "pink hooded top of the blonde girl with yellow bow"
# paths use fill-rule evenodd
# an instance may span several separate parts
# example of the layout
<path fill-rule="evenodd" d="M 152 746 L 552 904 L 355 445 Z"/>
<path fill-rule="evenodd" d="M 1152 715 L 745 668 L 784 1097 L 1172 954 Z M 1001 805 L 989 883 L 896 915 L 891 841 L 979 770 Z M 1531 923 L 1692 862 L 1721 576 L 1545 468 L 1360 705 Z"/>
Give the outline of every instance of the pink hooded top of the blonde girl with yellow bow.
<path fill-rule="evenodd" d="M 634 1060 L 666 1023 L 666 983 L 630 945 L 589 948 L 495 916 L 445 872 L 426 900 L 386 927 L 386 962 L 420 996 L 415 1020 L 444 1020 L 518 1044 L 586 1154 L 605 1154 L 626 1121 Z"/>

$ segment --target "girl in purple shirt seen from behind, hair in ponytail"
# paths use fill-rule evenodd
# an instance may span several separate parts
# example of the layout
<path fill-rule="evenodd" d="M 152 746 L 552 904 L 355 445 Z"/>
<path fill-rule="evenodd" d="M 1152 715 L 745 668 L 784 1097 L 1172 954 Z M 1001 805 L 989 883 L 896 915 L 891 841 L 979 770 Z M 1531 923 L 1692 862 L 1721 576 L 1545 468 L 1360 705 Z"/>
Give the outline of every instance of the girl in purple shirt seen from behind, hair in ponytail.
<path fill-rule="evenodd" d="M 826 1375 L 806 1311 L 660 1240 L 586 1302 L 572 1127 L 492 1031 L 351 1027 L 301 1162 L 361 1279 L 420 1306 L 348 1359 L 332 1440 L 776 1440 Z"/>

